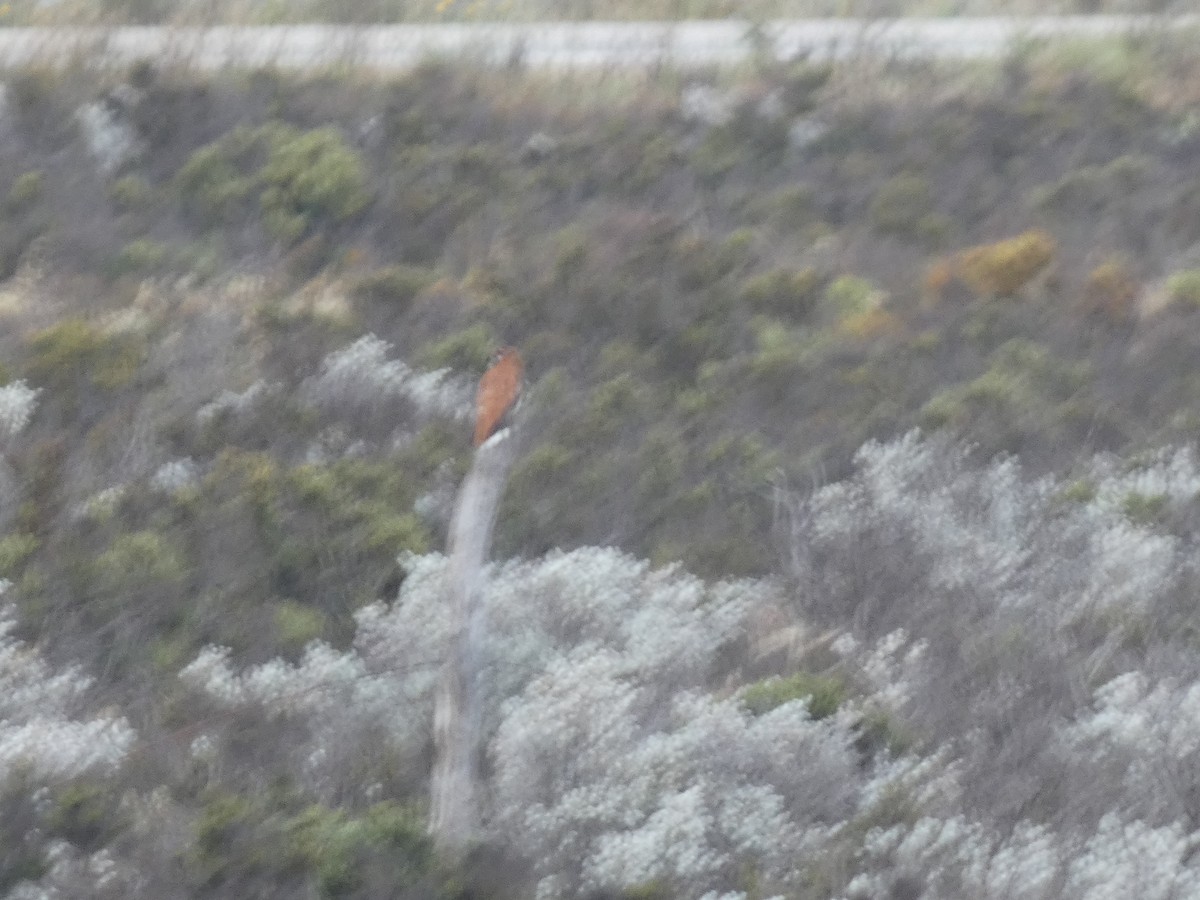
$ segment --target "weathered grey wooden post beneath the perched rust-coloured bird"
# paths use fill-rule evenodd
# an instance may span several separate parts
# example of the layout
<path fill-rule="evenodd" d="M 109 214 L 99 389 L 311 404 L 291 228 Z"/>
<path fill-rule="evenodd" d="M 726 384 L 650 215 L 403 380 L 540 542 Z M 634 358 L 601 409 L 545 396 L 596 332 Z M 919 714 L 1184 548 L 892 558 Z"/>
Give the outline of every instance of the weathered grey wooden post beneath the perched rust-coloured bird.
<path fill-rule="evenodd" d="M 430 834 L 437 848 L 460 856 L 480 829 L 480 684 L 485 610 L 482 568 L 504 482 L 516 454 L 510 428 L 475 451 L 458 488 L 450 522 L 450 646 L 433 708 L 436 758 L 431 787 Z"/>

